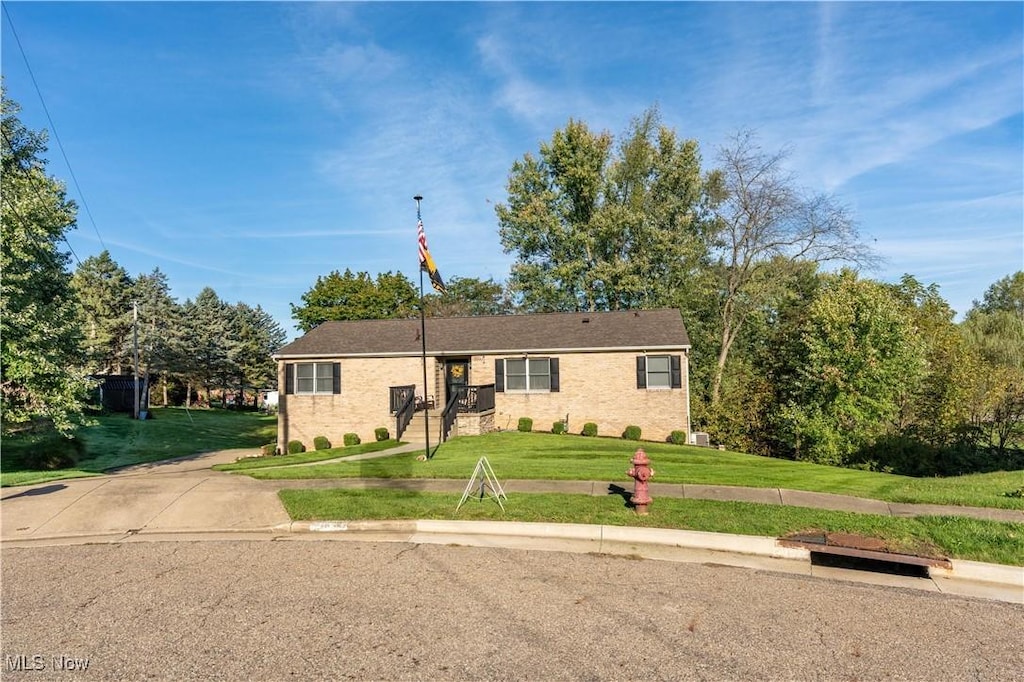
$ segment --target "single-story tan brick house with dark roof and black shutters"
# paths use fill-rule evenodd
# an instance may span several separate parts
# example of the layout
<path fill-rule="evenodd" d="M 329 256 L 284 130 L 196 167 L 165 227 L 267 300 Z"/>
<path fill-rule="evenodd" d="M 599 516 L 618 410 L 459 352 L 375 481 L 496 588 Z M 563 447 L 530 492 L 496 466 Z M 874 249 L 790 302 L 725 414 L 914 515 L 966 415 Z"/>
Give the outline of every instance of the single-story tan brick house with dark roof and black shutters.
<path fill-rule="evenodd" d="M 345 433 L 402 435 L 430 408 L 431 442 L 452 434 L 535 430 L 690 437 L 689 336 L 676 309 L 555 312 L 421 321 L 327 322 L 281 348 L 278 439 L 309 447 Z M 443 418 L 447 418 L 446 420 Z M 436 430 L 435 430 L 436 425 Z M 406 438 L 419 439 L 409 429 Z"/>

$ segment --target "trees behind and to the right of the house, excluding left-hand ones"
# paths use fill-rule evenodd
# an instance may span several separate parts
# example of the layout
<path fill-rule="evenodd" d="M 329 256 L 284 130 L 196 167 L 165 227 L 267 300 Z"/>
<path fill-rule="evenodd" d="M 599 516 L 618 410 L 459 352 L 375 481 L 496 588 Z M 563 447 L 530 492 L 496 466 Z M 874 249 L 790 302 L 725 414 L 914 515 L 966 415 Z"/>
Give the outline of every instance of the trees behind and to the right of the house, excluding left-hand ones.
<path fill-rule="evenodd" d="M 458 281 L 428 314 L 678 308 L 694 428 L 729 447 L 915 475 L 1024 468 L 1024 273 L 963 323 L 879 258 L 838 198 L 749 131 L 702 166 L 656 109 L 617 139 L 569 120 L 511 167 L 496 207 L 505 283 Z M 327 319 L 416 313 L 412 283 L 333 272 L 293 305 Z"/>

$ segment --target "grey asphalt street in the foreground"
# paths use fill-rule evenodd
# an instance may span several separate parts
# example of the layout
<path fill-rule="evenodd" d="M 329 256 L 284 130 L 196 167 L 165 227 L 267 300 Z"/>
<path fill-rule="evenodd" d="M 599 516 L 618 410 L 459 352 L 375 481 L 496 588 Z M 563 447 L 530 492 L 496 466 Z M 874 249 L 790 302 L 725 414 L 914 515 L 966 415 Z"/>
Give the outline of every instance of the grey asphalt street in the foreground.
<path fill-rule="evenodd" d="M 306 538 L 5 547 L 2 678 L 1024 675 L 1019 604 L 718 565 Z"/>

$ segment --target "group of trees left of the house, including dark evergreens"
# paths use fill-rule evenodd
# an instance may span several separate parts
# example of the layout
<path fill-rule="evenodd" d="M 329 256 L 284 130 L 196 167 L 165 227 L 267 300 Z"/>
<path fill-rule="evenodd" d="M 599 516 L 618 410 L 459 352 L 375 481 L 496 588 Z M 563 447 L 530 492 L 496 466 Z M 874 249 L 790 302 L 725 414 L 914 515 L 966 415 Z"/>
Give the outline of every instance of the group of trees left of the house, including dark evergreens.
<path fill-rule="evenodd" d="M 254 398 L 272 387 L 270 354 L 286 334 L 260 306 L 210 288 L 179 303 L 159 268 L 131 276 L 105 250 L 72 271 L 75 203 L 46 173 L 45 134 L 22 124 L 6 93 L 2 106 L 3 434 L 39 425 L 72 434 L 98 377 L 134 374 L 136 348 L 153 402 L 209 403 L 217 389 Z"/>

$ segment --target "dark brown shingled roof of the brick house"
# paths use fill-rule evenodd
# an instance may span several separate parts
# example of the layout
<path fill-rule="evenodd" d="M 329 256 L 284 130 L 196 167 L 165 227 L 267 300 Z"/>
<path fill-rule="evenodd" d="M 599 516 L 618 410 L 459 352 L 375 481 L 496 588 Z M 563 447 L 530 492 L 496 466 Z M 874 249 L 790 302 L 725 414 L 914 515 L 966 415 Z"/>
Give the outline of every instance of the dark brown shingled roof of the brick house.
<path fill-rule="evenodd" d="M 690 345 L 679 310 L 550 312 L 529 315 L 432 317 L 427 353 L 470 354 L 555 350 L 636 350 Z M 419 354 L 420 321 L 327 322 L 283 347 L 276 357 Z"/>

